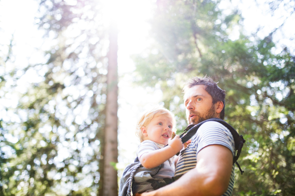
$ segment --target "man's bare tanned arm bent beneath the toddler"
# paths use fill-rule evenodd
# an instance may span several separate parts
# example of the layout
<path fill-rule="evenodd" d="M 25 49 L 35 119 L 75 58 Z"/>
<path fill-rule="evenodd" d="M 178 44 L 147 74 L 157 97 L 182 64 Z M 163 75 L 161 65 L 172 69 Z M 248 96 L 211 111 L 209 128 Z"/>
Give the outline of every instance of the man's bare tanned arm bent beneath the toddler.
<path fill-rule="evenodd" d="M 174 183 L 141 196 L 221 196 L 228 189 L 232 167 L 230 149 L 223 145 L 209 145 L 198 153 L 196 168 Z"/>

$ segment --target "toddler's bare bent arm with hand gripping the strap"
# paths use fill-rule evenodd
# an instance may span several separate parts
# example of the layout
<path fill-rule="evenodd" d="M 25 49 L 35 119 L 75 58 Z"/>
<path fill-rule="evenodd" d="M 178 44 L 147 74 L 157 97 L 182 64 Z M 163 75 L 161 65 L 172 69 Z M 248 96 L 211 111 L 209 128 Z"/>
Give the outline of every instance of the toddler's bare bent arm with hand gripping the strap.
<path fill-rule="evenodd" d="M 145 168 L 155 168 L 176 155 L 182 147 L 181 139 L 176 136 L 173 140 L 168 140 L 168 146 L 143 154 L 139 161 Z"/>

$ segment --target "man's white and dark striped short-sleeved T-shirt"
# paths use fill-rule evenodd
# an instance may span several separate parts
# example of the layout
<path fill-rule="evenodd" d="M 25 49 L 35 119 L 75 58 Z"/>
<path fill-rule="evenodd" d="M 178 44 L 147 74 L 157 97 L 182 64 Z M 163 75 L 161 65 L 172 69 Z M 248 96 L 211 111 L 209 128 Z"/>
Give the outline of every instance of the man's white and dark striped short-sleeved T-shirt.
<path fill-rule="evenodd" d="M 219 144 L 229 148 L 235 156 L 235 142 L 231 132 L 219 122 L 209 121 L 200 126 L 187 148 L 180 151 L 175 176 L 182 175 L 197 165 L 197 154 L 204 147 Z M 235 183 L 235 166 L 232 167 L 230 184 L 223 196 L 231 196 Z"/>

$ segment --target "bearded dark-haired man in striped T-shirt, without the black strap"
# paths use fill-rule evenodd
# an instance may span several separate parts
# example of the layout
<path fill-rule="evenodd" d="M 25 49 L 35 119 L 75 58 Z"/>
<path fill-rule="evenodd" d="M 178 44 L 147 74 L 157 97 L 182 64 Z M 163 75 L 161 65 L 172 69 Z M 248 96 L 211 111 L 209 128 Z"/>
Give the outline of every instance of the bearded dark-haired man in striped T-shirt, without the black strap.
<path fill-rule="evenodd" d="M 224 118 L 225 90 L 212 79 L 192 78 L 183 92 L 188 124 Z M 175 176 L 181 177 L 142 196 L 230 196 L 235 182 L 234 153 L 231 132 L 218 122 L 206 122 L 179 154 Z"/>

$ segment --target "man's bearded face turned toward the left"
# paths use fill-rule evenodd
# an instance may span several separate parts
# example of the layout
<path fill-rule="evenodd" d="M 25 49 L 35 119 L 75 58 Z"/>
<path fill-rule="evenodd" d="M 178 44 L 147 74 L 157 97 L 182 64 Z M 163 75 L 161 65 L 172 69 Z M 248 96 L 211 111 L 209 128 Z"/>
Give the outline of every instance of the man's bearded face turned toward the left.
<path fill-rule="evenodd" d="M 209 118 L 218 117 L 216 104 L 212 104 L 212 97 L 205 90 L 205 85 L 194 85 L 186 91 L 183 98 L 188 124 L 198 124 Z"/>

